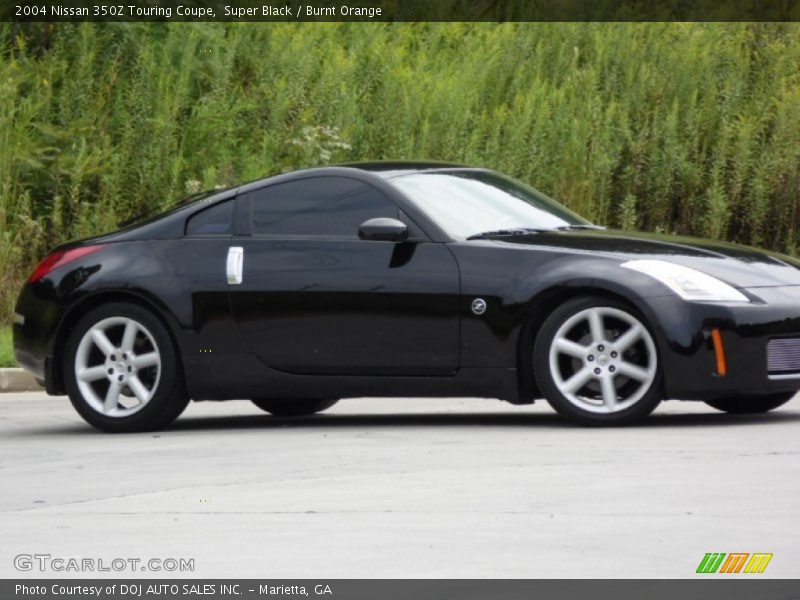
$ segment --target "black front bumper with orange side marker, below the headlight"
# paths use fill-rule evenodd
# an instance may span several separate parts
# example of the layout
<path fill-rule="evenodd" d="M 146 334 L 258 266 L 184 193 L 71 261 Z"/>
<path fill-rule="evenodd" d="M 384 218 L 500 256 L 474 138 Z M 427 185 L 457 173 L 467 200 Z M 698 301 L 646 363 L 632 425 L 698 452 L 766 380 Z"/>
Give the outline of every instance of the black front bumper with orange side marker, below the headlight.
<path fill-rule="evenodd" d="M 760 301 L 718 305 L 650 299 L 650 308 L 662 327 L 667 398 L 710 400 L 800 390 L 800 370 L 778 374 L 767 367 L 770 340 L 800 338 L 800 286 L 746 292 Z M 713 329 L 720 332 L 725 374 L 718 372 Z"/>

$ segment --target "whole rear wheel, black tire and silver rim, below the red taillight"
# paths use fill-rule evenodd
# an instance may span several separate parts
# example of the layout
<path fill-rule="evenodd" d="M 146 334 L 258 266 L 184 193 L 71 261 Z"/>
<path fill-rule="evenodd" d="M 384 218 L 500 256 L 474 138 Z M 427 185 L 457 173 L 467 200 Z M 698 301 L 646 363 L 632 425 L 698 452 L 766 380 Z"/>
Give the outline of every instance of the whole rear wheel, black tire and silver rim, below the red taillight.
<path fill-rule="evenodd" d="M 76 324 L 64 354 L 64 381 L 78 413 L 103 431 L 159 429 L 188 403 L 166 327 L 127 302 L 95 308 Z"/>

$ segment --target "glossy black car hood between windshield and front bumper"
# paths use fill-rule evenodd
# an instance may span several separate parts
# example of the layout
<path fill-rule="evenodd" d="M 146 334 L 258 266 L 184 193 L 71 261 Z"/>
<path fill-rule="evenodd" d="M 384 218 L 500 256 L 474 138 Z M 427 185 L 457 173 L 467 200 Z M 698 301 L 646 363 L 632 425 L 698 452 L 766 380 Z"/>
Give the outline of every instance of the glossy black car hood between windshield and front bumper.
<path fill-rule="evenodd" d="M 726 242 L 613 229 L 553 231 L 494 239 L 520 247 L 564 249 L 620 260 L 666 260 L 740 288 L 800 286 L 797 259 Z"/>

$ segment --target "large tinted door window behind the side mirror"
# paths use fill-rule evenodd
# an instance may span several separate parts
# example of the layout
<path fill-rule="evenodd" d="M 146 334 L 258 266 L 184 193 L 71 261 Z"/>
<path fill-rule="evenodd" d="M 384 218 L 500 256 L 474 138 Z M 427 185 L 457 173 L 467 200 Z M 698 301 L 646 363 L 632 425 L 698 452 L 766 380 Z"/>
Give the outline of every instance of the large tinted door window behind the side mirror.
<path fill-rule="evenodd" d="M 347 177 L 312 177 L 250 192 L 255 235 L 358 237 L 358 227 L 374 217 L 398 216 L 380 191 Z"/>

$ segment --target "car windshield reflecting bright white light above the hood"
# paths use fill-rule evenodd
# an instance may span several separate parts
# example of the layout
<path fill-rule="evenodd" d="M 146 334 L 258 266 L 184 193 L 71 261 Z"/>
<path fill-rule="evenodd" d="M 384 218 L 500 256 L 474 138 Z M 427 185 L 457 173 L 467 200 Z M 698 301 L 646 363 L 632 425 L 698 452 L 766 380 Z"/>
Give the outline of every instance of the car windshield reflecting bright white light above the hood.
<path fill-rule="evenodd" d="M 590 223 L 527 185 L 490 171 L 435 171 L 388 180 L 453 238 Z"/>

